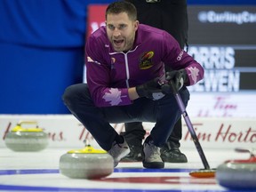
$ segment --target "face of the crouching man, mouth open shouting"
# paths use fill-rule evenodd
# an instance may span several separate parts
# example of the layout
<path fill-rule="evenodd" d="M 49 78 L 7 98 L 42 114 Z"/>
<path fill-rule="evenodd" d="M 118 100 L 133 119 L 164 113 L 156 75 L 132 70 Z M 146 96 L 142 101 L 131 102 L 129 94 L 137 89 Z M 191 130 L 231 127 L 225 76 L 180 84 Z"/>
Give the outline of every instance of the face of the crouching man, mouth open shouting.
<path fill-rule="evenodd" d="M 108 39 L 116 52 L 125 52 L 132 48 L 138 25 L 139 21 L 129 20 L 126 12 L 107 15 Z"/>

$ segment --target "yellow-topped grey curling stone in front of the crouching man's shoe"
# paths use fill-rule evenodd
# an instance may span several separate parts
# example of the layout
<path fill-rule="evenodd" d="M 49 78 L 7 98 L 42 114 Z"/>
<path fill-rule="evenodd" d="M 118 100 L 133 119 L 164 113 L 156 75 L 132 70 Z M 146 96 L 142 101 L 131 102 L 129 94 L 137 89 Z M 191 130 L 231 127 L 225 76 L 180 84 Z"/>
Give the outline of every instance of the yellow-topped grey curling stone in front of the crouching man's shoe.
<path fill-rule="evenodd" d="M 92 148 L 70 150 L 60 156 L 60 173 L 72 179 L 100 179 L 114 171 L 114 159 L 105 150 Z"/>

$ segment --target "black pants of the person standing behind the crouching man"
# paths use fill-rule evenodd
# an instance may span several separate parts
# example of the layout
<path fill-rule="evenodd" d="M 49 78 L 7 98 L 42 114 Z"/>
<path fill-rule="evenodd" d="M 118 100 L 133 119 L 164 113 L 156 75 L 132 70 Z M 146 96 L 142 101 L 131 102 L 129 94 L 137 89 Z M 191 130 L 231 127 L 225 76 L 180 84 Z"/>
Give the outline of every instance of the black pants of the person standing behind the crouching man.
<path fill-rule="evenodd" d="M 161 28 L 169 32 L 183 49 L 188 46 L 188 12 L 187 0 L 161 0 L 156 3 L 147 3 L 146 0 L 126 0 L 135 5 L 140 23 Z M 132 145 L 140 145 L 146 131 L 140 122 L 126 123 L 124 137 Z M 182 138 L 181 117 L 174 125 L 168 141 L 172 141 L 180 148 Z"/>

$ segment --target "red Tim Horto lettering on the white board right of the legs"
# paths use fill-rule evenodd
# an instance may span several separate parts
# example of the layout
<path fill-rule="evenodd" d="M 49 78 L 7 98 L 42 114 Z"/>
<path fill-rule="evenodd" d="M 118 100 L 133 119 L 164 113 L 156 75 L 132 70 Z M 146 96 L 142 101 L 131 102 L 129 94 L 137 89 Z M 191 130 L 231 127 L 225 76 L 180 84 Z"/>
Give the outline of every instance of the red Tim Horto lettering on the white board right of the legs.
<path fill-rule="evenodd" d="M 243 131 L 237 131 L 231 124 L 225 126 L 220 124 L 220 127 L 216 133 L 199 132 L 200 127 L 204 124 L 193 124 L 198 140 L 205 142 L 220 141 L 220 142 L 240 142 L 240 143 L 255 143 L 256 142 L 256 130 L 252 127 L 244 128 Z M 186 124 L 184 125 L 186 126 Z M 184 136 L 184 140 L 192 140 L 190 133 L 187 131 Z"/>

